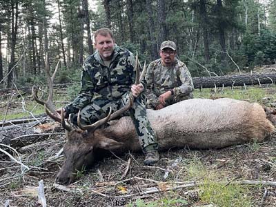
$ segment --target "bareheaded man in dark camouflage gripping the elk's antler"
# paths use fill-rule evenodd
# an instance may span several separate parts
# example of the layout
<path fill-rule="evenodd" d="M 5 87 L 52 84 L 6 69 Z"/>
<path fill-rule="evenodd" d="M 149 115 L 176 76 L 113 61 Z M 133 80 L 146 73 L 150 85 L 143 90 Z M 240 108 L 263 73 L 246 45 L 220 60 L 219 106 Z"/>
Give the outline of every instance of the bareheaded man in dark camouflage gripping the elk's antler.
<path fill-rule="evenodd" d="M 115 45 L 113 34 L 108 28 L 101 28 L 94 34 L 95 48 L 83 63 L 81 92 L 72 103 L 63 108 L 70 121 L 77 125 L 80 110 L 81 124 L 93 124 L 106 117 L 108 108 L 112 112 L 126 106 L 130 89 L 135 101 L 129 115 L 135 125 L 139 143 L 146 155 L 144 164 L 152 165 L 159 160 L 154 130 L 146 117 L 144 83 L 135 83 L 135 57 L 128 50 Z M 61 112 L 61 109 L 59 109 Z"/>

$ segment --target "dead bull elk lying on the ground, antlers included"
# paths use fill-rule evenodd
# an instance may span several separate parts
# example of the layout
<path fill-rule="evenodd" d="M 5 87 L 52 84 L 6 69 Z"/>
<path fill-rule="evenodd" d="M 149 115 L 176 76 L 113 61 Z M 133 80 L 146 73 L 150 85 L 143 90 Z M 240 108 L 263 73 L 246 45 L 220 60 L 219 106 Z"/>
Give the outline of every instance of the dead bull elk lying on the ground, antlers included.
<path fill-rule="evenodd" d="M 92 165 L 95 150 L 99 148 L 115 153 L 141 150 L 130 117 L 121 117 L 110 126 L 99 128 L 106 121 L 128 110 L 131 103 L 90 126 L 82 126 L 79 121 L 77 128 L 68 124 L 63 115 L 56 112 L 52 103 L 52 80 L 57 68 L 53 77 L 50 77 L 48 67 L 46 70 L 50 90 L 48 101 L 38 99 L 36 88 L 33 88 L 33 97 L 45 105 L 47 114 L 59 121 L 66 130 L 64 162 L 56 178 L 58 184 L 72 183 L 77 170 Z M 273 124 L 266 119 L 262 106 L 235 99 L 189 99 L 161 110 L 147 110 L 147 115 L 157 134 L 159 150 L 172 147 L 224 148 L 253 140 L 263 141 L 274 130 Z"/>

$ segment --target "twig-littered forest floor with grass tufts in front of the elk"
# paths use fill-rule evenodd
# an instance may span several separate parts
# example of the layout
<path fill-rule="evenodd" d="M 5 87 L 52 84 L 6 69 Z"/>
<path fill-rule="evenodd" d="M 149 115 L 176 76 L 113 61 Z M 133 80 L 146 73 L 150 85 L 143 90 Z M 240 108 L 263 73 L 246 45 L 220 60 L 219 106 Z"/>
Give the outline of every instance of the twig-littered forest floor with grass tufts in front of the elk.
<path fill-rule="evenodd" d="M 264 90 L 276 93 L 276 88 Z M 53 124 L 50 119 L 46 122 Z M 78 172 L 70 186 L 59 186 L 55 177 L 63 163 L 63 155 L 57 155 L 66 142 L 63 132 L 59 125 L 46 133 L 28 124 L 1 130 L 0 137 L 35 139 L 16 152 L 0 148 L 21 162 L 0 154 L 0 206 L 42 206 L 37 195 L 41 180 L 47 206 L 55 207 L 276 204 L 275 133 L 262 143 L 215 150 L 170 149 L 161 152 L 159 163 L 151 167 L 143 165 L 141 153 L 113 155 L 87 172 Z"/>

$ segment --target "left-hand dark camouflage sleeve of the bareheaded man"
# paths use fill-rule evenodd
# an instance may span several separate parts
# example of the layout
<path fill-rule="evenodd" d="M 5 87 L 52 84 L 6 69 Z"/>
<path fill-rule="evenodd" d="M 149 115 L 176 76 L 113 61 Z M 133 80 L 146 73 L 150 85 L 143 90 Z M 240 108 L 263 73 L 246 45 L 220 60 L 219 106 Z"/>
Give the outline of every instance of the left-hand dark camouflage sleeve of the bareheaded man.
<path fill-rule="evenodd" d="M 65 109 L 68 114 L 77 113 L 79 110 L 87 106 L 93 96 L 94 83 L 88 74 L 86 66 L 83 65 L 81 73 L 81 91 L 74 101 L 69 103 Z"/>

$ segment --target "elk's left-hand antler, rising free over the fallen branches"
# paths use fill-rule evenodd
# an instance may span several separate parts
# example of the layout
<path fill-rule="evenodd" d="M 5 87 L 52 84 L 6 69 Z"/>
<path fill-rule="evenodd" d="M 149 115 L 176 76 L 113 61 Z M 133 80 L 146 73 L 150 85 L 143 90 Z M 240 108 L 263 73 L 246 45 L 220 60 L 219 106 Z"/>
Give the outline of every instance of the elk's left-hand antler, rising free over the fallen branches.
<path fill-rule="evenodd" d="M 59 113 L 55 109 L 55 104 L 52 101 L 52 96 L 53 96 L 53 92 L 54 92 L 53 81 L 55 79 L 57 69 L 59 68 L 59 61 L 55 68 L 55 72 L 52 74 L 52 77 L 50 77 L 50 66 L 49 66 L 49 61 L 48 61 L 48 53 L 46 53 L 45 68 L 46 68 L 46 77 L 47 77 L 48 87 L 49 87 L 48 99 L 47 99 L 47 101 L 42 101 L 41 99 L 39 99 L 39 97 L 37 96 L 37 90 L 38 90 L 37 86 L 32 87 L 32 97 L 34 97 L 34 101 L 37 101 L 37 103 L 45 106 L 46 114 L 49 117 L 51 117 L 55 121 L 58 121 L 59 123 L 62 124 L 62 122 L 64 121 L 64 120 L 62 120 L 62 119 L 64 119 L 63 115 L 62 115 L 62 113 L 61 113 L 61 115 L 59 115 Z M 62 126 L 63 126 L 63 124 L 62 124 Z M 63 128 L 65 128 L 66 130 L 72 130 L 72 126 L 68 126 L 68 125 L 63 126 Z"/>

